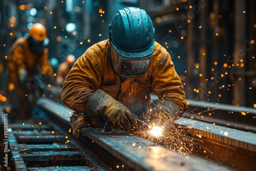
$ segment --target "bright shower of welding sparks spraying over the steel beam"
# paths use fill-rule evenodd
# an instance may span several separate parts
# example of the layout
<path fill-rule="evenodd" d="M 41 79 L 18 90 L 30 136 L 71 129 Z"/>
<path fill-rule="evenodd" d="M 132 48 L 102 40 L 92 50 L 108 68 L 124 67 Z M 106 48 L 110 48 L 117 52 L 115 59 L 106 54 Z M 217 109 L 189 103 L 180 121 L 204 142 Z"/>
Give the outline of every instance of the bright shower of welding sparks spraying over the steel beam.
<path fill-rule="evenodd" d="M 193 133 L 190 126 L 183 125 L 179 120 L 175 121 L 176 119 L 174 118 L 165 120 L 148 119 L 144 122 L 149 126 L 138 123 L 130 132 L 181 154 L 191 154 L 198 151 L 204 153 L 206 151 L 210 152 L 204 146 L 201 135 Z M 193 124 L 196 120 L 191 119 L 189 122 Z"/>

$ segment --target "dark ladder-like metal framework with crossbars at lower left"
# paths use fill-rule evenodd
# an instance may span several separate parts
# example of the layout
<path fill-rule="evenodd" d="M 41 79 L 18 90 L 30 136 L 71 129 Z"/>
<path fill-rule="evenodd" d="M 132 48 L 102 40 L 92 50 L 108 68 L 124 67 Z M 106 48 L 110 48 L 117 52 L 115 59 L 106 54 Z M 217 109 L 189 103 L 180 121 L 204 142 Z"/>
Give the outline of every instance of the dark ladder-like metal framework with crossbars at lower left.
<path fill-rule="evenodd" d="M 52 124 L 50 121 L 45 123 Z M 9 125 L 12 129 L 9 145 L 15 170 L 109 170 L 109 166 L 88 148 L 79 146 L 76 139 L 63 133 L 56 125 L 51 126 L 52 130 L 31 130 L 27 127 L 22 130 L 26 124 Z"/>

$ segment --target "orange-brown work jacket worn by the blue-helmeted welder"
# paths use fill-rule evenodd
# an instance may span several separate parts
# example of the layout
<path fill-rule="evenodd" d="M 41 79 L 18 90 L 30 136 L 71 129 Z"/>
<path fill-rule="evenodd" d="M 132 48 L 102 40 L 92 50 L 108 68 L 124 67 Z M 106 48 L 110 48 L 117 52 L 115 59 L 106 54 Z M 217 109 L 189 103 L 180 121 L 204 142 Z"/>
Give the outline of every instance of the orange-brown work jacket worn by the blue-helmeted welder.
<path fill-rule="evenodd" d="M 63 83 L 61 100 L 70 109 L 82 116 L 71 118 L 73 134 L 82 126 L 102 126 L 97 120 L 89 119 L 87 101 L 98 89 L 120 101 L 131 111 L 152 103 L 150 93 L 159 99 L 176 103 L 183 111 L 186 105 L 183 84 L 177 75 L 169 53 L 155 42 L 154 54 L 145 75 L 127 78 L 124 81 L 111 67 L 109 40 L 103 40 L 90 47 L 75 62 Z"/>

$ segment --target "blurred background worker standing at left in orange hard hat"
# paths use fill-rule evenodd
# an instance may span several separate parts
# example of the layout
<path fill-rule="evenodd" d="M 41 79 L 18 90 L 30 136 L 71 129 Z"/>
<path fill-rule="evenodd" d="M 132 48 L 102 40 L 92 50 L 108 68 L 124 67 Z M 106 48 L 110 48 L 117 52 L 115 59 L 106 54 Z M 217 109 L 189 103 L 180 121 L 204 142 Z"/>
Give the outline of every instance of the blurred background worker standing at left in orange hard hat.
<path fill-rule="evenodd" d="M 52 67 L 48 60 L 47 30 L 35 23 L 28 34 L 18 38 L 10 50 L 8 63 L 8 90 L 11 103 L 11 119 L 32 117 L 32 110 L 50 81 Z"/>

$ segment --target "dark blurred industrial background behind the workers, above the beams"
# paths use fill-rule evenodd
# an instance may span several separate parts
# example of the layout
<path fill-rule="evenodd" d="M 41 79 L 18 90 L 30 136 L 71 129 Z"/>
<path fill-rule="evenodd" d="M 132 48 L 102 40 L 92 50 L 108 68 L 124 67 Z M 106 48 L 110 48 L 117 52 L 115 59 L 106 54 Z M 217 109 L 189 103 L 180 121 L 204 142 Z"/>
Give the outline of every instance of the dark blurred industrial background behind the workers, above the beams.
<path fill-rule="evenodd" d="M 253 0 L 1 1 L 1 97 L 7 97 L 10 48 L 31 23 L 46 26 L 49 58 L 56 71 L 68 54 L 78 58 L 107 39 L 116 10 L 128 6 L 145 9 L 151 16 L 156 41 L 172 56 L 186 99 L 256 108 Z"/>

